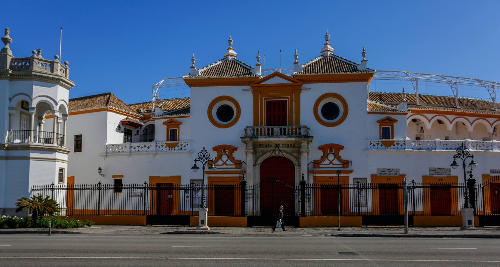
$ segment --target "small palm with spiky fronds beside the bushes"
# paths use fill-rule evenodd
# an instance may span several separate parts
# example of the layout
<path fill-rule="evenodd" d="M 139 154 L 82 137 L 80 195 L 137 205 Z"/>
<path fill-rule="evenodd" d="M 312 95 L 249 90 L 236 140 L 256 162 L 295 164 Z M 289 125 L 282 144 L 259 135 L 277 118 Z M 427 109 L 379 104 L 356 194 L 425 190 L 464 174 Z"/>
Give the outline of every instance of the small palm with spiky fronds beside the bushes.
<path fill-rule="evenodd" d="M 28 210 L 31 213 L 31 219 L 41 219 L 44 214 L 52 215 L 59 212 L 59 204 L 49 196 L 35 195 L 32 197 L 22 197 L 15 203 L 17 209 L 15 212 Z"/>

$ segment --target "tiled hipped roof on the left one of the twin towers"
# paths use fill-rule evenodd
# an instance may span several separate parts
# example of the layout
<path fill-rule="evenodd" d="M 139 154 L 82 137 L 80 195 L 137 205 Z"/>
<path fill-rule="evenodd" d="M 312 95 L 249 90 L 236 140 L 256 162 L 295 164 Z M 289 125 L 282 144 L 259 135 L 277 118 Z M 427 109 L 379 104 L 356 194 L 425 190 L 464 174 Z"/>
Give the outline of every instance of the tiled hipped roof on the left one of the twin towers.
<path fill-rule="evenodd" d="M 219 77 L 259 77 L 251 73 L 252 67 L 235 59 L 223 58 L 199 69 L 199 75 L 185 75 L 183 78 L 219 78 Z"/>

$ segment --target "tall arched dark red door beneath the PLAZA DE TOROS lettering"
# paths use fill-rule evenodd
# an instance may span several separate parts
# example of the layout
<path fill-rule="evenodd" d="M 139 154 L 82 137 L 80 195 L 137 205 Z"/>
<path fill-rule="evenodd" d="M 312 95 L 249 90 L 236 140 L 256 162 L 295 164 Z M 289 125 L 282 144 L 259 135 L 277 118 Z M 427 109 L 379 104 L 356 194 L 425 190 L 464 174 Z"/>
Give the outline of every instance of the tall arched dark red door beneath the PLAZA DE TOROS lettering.
<path fill-rule="evenodd" d="M 279 156 L 269 157 L 260 164 L 260 214 L 275 216 L 280 205 L 284 215 L 294 215 L 295 167 Z"/>

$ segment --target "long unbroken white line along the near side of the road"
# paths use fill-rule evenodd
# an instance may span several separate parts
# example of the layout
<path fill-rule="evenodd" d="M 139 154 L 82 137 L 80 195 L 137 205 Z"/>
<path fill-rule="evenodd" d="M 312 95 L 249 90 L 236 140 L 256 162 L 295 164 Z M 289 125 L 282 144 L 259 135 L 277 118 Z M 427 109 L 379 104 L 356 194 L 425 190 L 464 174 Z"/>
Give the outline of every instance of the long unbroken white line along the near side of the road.
<path fill-rule="evenodd" d="M 173 258 L 173 257 L 0 257 L 0 259 L 131 259 L 131 260 L 253 260 L 253 261 L 373 261 L 373 262 L 452 262 L 452 263 L 500 263 L 482 260 L 403 260 L 403 259 L 283 259 L 283 258 Z"/>

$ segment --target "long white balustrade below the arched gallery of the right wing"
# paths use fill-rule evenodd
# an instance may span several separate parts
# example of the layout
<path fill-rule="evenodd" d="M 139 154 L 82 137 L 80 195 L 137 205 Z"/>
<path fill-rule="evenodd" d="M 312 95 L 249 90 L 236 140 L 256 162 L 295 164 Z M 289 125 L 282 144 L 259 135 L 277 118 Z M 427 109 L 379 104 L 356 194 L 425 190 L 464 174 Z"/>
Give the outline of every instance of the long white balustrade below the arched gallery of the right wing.
<path fill-rule="evenodd" d="M 474 140 L 367 140 L 368 150 L 456 150 L 461 144 L 470 150 L 500 151 L 500 141 Z"/>

